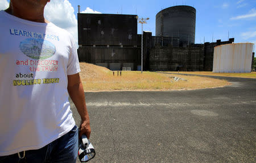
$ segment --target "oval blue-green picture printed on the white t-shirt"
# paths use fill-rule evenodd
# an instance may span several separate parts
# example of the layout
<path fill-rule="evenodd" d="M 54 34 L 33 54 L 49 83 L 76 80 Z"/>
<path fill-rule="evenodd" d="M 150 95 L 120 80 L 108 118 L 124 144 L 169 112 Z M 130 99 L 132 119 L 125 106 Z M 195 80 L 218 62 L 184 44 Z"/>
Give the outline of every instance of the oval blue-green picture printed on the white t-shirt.
<path fill-rule="evenodd" d="M 56 52 L 55 45 L 53 45 L 51 42 L 34 38 L 21 41 L 19 48 L 24 55 L 36 60 L 49 58 Z"/>

